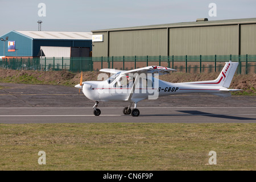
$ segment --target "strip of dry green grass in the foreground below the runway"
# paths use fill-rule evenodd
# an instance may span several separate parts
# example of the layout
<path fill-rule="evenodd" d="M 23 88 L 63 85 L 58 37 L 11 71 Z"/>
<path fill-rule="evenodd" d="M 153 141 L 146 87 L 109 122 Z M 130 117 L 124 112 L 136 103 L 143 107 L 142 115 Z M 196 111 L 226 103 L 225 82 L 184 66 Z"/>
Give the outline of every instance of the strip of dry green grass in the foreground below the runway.
<path fill-rule="evenodd" d="M 255 123 L 0 124 L 0 170 L 255 170 Z M 46 165 L 38 152 L 46 152 Z M 209 151 L 217 164 L 209 165 Z"/>

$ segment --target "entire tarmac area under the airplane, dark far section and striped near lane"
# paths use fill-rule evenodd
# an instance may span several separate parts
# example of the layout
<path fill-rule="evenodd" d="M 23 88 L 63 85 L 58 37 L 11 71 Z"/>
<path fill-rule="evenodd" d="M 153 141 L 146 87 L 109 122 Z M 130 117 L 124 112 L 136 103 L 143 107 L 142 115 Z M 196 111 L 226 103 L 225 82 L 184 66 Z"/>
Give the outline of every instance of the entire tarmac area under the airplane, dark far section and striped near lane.
<path fill-rule="evenodd" d="M 58 85 L 0 83 L 0 123 L 255 123 L 256 97 L 222 98 L 208 94 L 160 97 L 138 103 L 139 117 L 123 115 L 126 102 L 93 101 L 76 88 Z"/>

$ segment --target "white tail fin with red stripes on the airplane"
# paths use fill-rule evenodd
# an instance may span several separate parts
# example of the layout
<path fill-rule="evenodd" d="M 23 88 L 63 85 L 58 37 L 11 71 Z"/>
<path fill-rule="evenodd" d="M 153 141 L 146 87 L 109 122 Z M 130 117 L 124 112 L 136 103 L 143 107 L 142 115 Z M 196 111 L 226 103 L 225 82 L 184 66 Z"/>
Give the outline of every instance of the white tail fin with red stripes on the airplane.
<path fill-rule="evenodd" d="M 220 75 L 217 77 L 216 80 L 188 82 L 186 84 L 223 86 L 225 88 L 229 88 L 229 85 L 232 81 L 234 73 L 236 72 L 238 64 L 238 62 L 226 62 L 224 68 L 222 69 Z"/>

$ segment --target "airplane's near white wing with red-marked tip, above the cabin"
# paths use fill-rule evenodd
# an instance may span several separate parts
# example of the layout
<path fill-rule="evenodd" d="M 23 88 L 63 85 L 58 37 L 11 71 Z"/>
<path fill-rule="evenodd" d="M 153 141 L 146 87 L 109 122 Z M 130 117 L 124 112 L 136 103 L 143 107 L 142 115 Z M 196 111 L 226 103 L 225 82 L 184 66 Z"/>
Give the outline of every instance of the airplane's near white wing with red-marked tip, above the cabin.
<path fill-rule="evenodd" d="M 138 69 L 132 69 L 130 71 L 122 72 L 122 74 L 129 75 L 129 73 L 158 73 L 159 75 L 166 75 L 169 74 L 171 71 L 177 71 L 176 69 L 166 68 L 166 67 L 159 67 L 159 66 L 150 66 Z"/>

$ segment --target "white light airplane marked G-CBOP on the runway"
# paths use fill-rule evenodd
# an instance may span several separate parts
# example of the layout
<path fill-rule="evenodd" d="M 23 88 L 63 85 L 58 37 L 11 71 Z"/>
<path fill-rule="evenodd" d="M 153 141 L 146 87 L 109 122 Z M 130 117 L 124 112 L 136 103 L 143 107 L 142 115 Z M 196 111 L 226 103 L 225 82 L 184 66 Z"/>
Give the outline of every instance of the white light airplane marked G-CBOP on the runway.
<path fill-rule="evenodd" d="M 129 102 L 129 105 L 123 108 L 123 114 L 138 117 L 140 112 L 137 109 L 137 104 L 145 99 L 154 100 L 161 96 L 184 93 L 209 93 L 221 97 L 231 96 L 230 91 L 241 90 L 229 89 L 238 64 L 238 62 L 226 62 L 216 80 L 179 83 L 167 82 L 158 78 L 159 75 L 169 74 L 176 71 L 176 69 L 160 66 L 149 66 L 130 71 L 104 68 L 100 71 L 111 73 L 108 79 L 82 82 L 81 73 L 80 84 L 75 85 L 75 87 L 79 89 L 79 93 L 82 90 L 82 93 L 89 100 L 95 102 L 93 113 L 96 116 L 101 114 L 101 110 L 97 108 L 99 102 L 125 101 Z M 131 109 L 133 103 L 134 109 Z"/>

